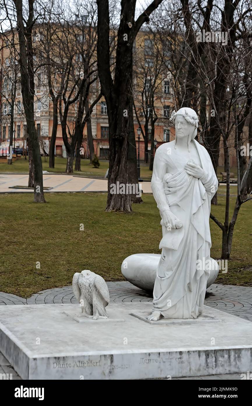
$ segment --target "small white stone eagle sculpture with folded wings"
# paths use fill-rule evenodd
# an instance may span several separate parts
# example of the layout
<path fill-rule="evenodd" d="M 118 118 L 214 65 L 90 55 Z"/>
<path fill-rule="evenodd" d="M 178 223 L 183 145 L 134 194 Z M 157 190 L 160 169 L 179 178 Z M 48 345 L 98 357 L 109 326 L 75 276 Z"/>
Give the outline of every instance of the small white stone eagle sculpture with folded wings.
<path fill-rule="evenodd" d="M 107 319 L 105 307 L 109 304 L 109 289 L 100 276 L 90 270 L 76 272 L 73 276 L 73 293 L 84 316 Z"/>

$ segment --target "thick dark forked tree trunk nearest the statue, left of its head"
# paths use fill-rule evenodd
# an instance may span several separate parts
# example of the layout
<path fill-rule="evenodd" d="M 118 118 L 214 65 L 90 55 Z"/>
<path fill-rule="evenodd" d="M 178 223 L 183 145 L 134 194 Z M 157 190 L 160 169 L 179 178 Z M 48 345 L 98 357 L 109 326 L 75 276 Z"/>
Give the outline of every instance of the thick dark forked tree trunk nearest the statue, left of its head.
<path fill-rule="evenodd" d="M 162 0 L 155 0 L 135 21 L 134 0 L 122 0 L 120 24 L 117 30 L 115 75 L 112 79 L 109 60 L 109 1 L 97 0 L 98 43 L 97 63 L 102 92 L 109 119 L 109 176 L 107 211 L 131 212 L 129 194 L 111 194 L 111 184 L 128 184 L 128 143 L 130 93 L 132 88 L 132 47 L 141 26 Z"/>

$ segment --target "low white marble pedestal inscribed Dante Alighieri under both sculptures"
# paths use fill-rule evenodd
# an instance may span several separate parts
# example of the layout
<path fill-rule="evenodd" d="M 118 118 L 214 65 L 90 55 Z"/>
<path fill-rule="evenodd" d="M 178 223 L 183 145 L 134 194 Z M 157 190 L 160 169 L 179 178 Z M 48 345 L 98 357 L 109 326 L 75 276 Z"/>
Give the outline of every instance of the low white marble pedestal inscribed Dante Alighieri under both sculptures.
<path fill-rule="evenodd" d="M 151 303 L 112 303 L 124 322 L 78 323 L 77 304 L 0 306 L 0 351 L 23 379 L 173 378 L 252 370 L 252 323 L 204 308 L 221 320 L 151 325 L 130 313 Z"/>

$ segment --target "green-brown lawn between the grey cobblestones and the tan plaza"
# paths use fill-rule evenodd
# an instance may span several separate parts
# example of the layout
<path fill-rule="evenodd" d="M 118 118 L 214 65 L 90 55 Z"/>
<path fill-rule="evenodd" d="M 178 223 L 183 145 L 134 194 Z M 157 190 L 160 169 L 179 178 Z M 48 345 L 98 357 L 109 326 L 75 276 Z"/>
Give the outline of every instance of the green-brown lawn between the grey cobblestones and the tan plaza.
<path fill-rule="evenodd" d="M 134 253 L 160 253 L 161 226 L 150 194 L 133 205 L 132 214 L 106 213 L 106 194 L 47 193 L 46 204 L 32 194 L 0 194 L 0 291 L 29 297 L 53 287 L 70 285 L 74 272 L 90 269 L 106 281 L 124 280 L 121 263 Z M 224 197 L 212 207 L 223 220 Z M 234 198 L 232 200 L 232 205 Z M 240 210 L 232 259 L 218 283 L 252 286 L 251 202 Z M 84 231 L 80 231 L 80 224 Z M 211 256 L 220 258 L 221 232 L 210 220 Z M 40 262 L 40 269 L 36 263 Z"/>

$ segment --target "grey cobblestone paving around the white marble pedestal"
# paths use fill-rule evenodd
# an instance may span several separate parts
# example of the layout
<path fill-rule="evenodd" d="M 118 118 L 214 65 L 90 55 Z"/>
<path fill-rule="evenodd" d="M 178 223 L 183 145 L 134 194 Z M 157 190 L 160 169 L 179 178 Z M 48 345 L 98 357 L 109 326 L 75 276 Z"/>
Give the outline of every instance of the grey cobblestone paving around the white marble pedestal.
<path fill-rule="evenodd" d="M 152 295 L 133 286 L 129 282 L 107 282 L 111 302 L 151 302 Z M 28 299 L 0 292 L 0 305 L 77 303 L 72 286 L 48 289 L 32 295 Z M 252 287 L 211 285 L 207 289 L 205 304 L 215 309 L 231 313 L 252 322 Z M 0 353 L 0 374 L 12 374 L 13 379 L 21 379 L 9 362 Z M 179 380 L 240 380 L 240 374 L 173 378 Z"/>

